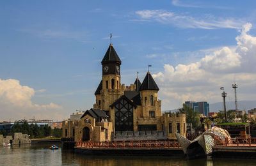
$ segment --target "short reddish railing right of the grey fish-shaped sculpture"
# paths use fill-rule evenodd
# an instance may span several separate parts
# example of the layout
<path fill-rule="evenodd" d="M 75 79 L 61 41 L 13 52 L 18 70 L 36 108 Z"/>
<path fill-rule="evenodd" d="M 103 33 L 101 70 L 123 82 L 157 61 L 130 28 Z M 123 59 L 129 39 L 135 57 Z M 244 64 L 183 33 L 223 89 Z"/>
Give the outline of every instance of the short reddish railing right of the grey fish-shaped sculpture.
<path fill-rule="evenodd" d="M 226 138 L 225 140 L 218 139 L 218 137 L 214 137 L 214 146 L 256 146 L 256 138 L 248 137 L 248 138 Z"/>

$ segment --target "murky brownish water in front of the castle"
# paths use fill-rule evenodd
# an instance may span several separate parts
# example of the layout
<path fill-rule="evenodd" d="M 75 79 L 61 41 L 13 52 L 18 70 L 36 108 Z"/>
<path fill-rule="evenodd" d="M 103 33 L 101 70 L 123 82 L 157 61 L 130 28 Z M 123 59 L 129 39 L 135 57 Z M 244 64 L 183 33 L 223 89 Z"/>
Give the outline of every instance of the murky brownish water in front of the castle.
<path fill-rule="evenodd" d="M 207 158 L 186 160 L 186 158 L 149 156 L 86 156 L 65 149 L 51 150 L 51 144 L 26 144 L 13 147 L 0 146 L 0 165 L 256 165 L 252 159 Z M 61 146 L 56 144 L 56 146 Z"/>

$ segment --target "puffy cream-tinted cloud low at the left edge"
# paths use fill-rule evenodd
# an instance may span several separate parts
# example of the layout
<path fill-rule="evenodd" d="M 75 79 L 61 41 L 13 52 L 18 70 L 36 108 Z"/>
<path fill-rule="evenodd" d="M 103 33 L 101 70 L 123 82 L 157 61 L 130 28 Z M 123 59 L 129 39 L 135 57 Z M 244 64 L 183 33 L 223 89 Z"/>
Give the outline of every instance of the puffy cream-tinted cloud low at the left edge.
<path fill-rule="evenodd" d="M 39 92 L 45 89 L 38 90 Z M 19 80 L 0 79 L 0 114 L 1 120 L 21 119 L 24 117 L 37 119 L 63 119 L 61 114 L 63 108 L 55 103 L 38 105 L 31 101 L 35 95 L 35 90 L 28 86 L 20 85 Z"/>

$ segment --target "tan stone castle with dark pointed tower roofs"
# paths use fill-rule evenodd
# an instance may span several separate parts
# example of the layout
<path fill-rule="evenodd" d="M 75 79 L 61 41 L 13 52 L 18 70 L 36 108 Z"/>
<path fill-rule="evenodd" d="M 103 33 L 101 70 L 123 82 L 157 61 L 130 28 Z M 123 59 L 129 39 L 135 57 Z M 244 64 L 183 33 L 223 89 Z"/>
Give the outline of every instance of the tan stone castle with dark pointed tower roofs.
<path fill-rule="evenodd" d="M 63 121 L 63 138 L 92 140 L 157 140 L 186 137 L 185 114 L 162 114 L 159 87 L 150 72 L 142 84 L 121 84 L 122 64 L 113 47 L 102 61 L 102 79 L 95 91 L 96 103 L 79 121 Z"/>

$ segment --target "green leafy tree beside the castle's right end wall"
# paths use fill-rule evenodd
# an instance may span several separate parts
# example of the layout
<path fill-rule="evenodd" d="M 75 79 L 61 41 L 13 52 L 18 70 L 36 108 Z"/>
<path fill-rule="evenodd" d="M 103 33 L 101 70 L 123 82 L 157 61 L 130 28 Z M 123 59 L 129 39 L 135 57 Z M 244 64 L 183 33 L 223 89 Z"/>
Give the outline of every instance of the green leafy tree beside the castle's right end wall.
<path fill-rule="evenodd" d="M 186 123 L 192 123 L 194 128 L 200 128 L 200 114 L 183 103 L 183 107 L 179 109 L 177 114 L 186 114 Z"/>

